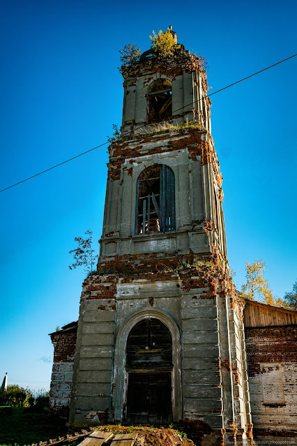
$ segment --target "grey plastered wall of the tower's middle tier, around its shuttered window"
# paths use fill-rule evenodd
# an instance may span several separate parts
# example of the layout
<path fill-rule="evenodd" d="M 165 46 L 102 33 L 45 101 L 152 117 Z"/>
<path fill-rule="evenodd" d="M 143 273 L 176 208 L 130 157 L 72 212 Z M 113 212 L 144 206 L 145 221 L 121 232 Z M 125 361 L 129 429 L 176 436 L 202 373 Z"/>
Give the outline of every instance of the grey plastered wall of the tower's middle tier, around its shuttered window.
<path fill-rule="evenodd" d="M 215 221 L 216 218 L 213 193 L 217 193 L 218 197 L 219 193 L 213 169 L 208 164 L 201 165 L 198 154 L 193 160 L 188 149 L 168 152 L 167 141 L 163 140 L 162 144 L 160 153 L 125 158 L 121 165 L 121 177 L 118 180 L 109 178 L 107 181 L 106 204 L 109 203 L 109 206 L 105 206 L 101 255 L 146 253 L 160 249 L 183 251 L 189 245 L 193 251 L 210 252 L 211 246 L 215 244 L 220 247 L 223 260 L 226 253 L 223 220 L 219 218 L 216 222 L 217 232 L 211 231 L 206 236 L 204 230 L 204 219 Z M 176 231 L 166 235 L 135 235 L 137 179 L 144 168 L 154 163 L 168 165 L 175 175 Z M 217 202 L 220 203 L 219 200 Z M 217 215 L 221 214 L 219 210 Z"/>

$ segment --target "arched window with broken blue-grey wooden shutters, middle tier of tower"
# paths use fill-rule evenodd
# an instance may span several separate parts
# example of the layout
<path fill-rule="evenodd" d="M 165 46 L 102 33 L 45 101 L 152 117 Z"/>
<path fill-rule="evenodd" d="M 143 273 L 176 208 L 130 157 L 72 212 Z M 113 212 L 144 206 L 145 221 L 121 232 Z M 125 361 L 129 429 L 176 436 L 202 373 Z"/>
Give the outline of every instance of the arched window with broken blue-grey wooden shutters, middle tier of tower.
<path fill-rule="evenodd" d="M 175 230 L 174 172 L 153 164 L 137 180 L 136 233 Z"/>

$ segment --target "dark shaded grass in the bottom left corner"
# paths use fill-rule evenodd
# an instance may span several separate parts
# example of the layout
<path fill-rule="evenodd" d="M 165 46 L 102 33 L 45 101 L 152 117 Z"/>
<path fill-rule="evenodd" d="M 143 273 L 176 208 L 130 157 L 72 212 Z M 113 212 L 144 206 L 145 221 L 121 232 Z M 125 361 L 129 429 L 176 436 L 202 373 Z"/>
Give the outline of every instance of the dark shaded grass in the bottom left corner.
<path fill-rule="evenodd" d="M 31 445 L 67 433 L 65 419 L 49 410 L 32 412 L 26 408 L 0 407 L 0 446 Z"/>

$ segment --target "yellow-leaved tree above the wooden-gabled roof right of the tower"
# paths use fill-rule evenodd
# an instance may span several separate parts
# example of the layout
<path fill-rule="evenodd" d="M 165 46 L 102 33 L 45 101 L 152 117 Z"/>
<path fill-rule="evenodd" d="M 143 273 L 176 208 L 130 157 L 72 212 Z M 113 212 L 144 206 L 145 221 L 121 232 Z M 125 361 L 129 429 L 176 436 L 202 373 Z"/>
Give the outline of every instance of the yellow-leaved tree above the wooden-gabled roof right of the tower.
<path fill-rule="evenodd" d="M 264 260 L 257 260 L 257 262 L 249 263 L 247 262 L 247 282 L 243 283 L 241 292 L 245 297 L 250 297 L 250 299 L 259 300 L 266 302 L 266 304 L 275 305 L 275 300 L 273 299 L 273 293 L 269 289 L 269 284 L 266 278 L 264 278 L 264 272 L 266 268 L 266 263 Z"/>

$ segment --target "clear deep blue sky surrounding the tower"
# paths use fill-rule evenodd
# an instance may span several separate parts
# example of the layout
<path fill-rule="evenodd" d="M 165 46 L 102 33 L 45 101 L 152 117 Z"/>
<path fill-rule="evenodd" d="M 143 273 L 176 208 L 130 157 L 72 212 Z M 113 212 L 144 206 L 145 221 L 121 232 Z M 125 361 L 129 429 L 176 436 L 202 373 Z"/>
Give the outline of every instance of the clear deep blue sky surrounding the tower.
<path fill-rule="evenodd" d="M 296 53 L 295 1 L 183 3 L 6 1 L 1 29 L 4 188 L 105 142 L 121 124 L 119 50 L 147 50 L 169 24 L 208 61 L 220 89 Z M 238 288 L 245 262 L 264 259 L 275 295 L 296 280 L 297 57 L 212 97 L 224 215 Z M 106 147 L 0 194 L 0 379 L 49 387 L 48 333 L 77 319 L 84 272 L 68 251 L 100 238 Z M 98 251 L 98 244 L 95 243 Z"/>

